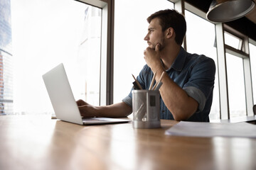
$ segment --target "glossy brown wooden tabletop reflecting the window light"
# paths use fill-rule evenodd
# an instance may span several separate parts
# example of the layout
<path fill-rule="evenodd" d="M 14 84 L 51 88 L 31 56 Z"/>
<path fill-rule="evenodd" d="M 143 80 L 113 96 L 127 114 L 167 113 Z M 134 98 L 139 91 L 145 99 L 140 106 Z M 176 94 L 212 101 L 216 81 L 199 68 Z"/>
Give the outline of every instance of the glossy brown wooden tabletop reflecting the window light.
<path fill-rule="evenodd" d="M 0 116 L 0 169 L 256 169 L 256 140 L 173 137 L 175 125 L 82 126 L 50 116 Z"/>

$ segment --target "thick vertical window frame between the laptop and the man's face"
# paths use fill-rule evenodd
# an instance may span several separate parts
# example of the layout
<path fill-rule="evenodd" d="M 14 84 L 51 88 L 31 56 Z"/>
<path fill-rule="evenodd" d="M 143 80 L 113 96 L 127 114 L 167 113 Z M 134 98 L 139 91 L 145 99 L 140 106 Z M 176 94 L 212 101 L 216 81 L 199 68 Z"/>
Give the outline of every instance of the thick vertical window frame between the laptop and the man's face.
<path fill-rule="evenodd" d="M 113 103 L 114 1 L 75 0 L 102 9 L 100 106 Z"/>

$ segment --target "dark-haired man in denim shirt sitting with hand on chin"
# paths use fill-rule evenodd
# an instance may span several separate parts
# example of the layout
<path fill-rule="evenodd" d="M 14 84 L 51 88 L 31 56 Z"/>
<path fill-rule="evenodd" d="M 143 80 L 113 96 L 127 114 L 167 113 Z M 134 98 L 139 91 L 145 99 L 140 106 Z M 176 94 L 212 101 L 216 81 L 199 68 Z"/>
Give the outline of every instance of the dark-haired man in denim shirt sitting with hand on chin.
<path fill-rule="evenodd" d="M 137 80 L 143 89 L 149 89 L 151 79 L 161 79 L 160 118 L 208 122 L 213 100 L 215 63 L 204 55 L 189 54 L 181 44 L 186 34 L 186 21 L 175 10 L 153 13 L 149 18 L 144 40 L 146 65 Z M 125 117 L 132 113 L 132 91 L 121 103 L 110 106 L 91 106 L 77 101 L 85 117 Z"/>

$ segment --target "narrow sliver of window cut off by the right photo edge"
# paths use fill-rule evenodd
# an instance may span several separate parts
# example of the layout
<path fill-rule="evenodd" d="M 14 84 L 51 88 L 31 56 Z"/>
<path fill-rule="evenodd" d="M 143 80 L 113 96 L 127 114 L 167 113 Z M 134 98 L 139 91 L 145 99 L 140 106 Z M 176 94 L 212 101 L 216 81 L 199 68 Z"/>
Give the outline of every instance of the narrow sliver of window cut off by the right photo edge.
<path fill-rule="evenodd" d="M 256 104 L 256 43 L 250 43 L 250 67 L 252 72 L 253 104 Z"/>

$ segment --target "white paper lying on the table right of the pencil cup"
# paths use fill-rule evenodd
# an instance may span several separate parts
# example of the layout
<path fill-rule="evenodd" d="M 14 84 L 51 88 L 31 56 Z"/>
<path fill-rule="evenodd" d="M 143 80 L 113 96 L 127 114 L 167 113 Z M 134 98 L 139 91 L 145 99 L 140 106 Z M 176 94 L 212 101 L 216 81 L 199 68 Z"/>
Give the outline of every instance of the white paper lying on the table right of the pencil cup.
<path fill-rule="evenodd" d="M 198 123 L 181 121 L 166 130 L 166 135 L 189 137 L 252 137 L 256 125 L 250 123 Z"/>

